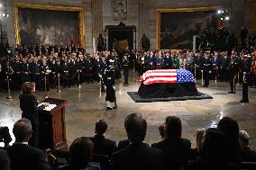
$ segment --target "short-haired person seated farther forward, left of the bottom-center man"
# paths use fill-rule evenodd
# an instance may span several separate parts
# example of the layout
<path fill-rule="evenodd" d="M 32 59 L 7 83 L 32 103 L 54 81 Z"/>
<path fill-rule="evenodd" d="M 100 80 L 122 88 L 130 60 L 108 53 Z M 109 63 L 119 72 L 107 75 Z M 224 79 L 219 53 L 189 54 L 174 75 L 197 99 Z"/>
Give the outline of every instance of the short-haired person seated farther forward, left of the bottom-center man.
<path fill-rule="evenodd" d="M 90 138 L 94 143 L 94 153 L 111 156 L 116 151 L 115 141 L 105 139 L 104 133 L 107 130 L 107 123 L 105 120 L 96 121 L 96 135 Z"/>

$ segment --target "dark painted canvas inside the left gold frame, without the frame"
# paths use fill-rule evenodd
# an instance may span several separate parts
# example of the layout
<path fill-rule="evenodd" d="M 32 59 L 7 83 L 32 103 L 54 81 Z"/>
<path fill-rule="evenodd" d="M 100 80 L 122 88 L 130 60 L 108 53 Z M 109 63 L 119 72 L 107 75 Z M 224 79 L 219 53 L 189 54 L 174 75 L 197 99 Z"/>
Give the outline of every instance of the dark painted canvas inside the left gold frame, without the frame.
<path fill-rule="evenodd" d="M 78 12 L 19 8 L 22 44 L 79 43 Z"/>

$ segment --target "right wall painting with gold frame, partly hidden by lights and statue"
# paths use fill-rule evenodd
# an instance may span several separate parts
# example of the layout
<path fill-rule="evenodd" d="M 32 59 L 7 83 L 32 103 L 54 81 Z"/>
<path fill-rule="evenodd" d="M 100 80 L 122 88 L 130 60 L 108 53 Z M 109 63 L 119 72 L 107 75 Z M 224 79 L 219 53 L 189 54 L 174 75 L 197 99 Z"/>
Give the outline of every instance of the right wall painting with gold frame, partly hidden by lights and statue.
<path fill-rule="evenodd" d="M 217 8 L 158 9 L 157 49 L 192 49 L 194 35 L 217 28 Z"/>

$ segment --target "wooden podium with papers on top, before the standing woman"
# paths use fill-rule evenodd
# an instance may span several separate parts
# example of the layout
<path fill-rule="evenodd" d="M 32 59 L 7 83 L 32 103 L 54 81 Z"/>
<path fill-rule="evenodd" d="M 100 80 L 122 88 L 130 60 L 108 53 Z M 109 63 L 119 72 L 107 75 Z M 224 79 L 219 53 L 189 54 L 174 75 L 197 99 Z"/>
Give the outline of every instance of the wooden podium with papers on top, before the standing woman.
<path fill-rule="evenodd" d="M 56 104 L 50 111 L 39 112 L 39 148 L 68 150 L 66 139 L 65 106 L 68 101 L 47 98 L 42 103 Z"/>

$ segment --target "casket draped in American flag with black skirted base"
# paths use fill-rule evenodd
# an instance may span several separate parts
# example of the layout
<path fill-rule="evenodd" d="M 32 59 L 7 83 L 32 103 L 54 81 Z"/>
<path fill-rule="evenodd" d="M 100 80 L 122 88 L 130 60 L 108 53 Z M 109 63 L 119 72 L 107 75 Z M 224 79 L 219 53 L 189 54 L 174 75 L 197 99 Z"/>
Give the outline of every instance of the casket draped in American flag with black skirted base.
<path fill-rule="evenodd" d="M 186 69 L 148 70 L 140 82 L 138 93 L 143 98 L 197 95 L 196 80 Z"/>

